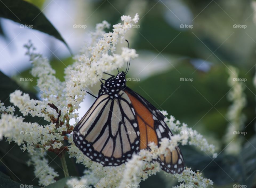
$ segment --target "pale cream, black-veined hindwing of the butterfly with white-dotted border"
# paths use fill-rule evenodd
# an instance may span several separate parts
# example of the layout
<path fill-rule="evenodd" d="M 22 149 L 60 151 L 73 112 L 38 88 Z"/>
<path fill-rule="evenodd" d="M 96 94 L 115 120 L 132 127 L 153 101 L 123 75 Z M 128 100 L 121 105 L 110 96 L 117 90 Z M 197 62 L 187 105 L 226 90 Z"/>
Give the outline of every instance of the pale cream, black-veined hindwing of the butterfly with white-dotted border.
<path fill-rule="evenodd" d="M 98 97 L 74 129 L 76 146 L 92 161 L 118 166 L 139 150 L 138 122 L 127 95 Z"/>

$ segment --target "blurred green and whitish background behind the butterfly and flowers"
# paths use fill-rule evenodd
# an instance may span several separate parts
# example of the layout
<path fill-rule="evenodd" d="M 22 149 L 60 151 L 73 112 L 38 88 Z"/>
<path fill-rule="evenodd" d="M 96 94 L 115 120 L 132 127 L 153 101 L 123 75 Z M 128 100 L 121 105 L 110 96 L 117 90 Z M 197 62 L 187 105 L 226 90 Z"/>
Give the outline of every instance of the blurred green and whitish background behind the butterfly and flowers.
<path fill-rule="evenodd" d="M 169 115 L 193 127 L 216 146 L 219 155 L 214 160 L 195 147 L 181 146 L 187 167 L 199 170 L 205 178 L 211 178 L 214 187 L 256 187 L 256 95 L 253 81 L 256 62 L 255 1 L 27 2 L 42 11 L 40 14 L 44 14 L 59 31 L 72 54 L 78 54 L 84 42 L 91 40 L 88 34 L 93 31 L 96 23 L 106 20 L 113 25 L 121 22 L 122 15 L 133 17 L 138 13 L 140 20 L 137 28 L 131 29 L 125 36 L 130 47 L 139 54 L 138 58 L 131 61 L 127 86 L 159 110 L 166 110 Z M 20 23 L 7 18 L 0 18 L 0 23 L 1 86 L 13 86 L 9 90 L 2 89 L 1 102 L 6 100 L 5 104 L 9 104 L 7 99 L 17 89 L 16 86 L 39 98 L 36 78 L 32 82 L 20 81 L 20 78 L 33 78 L 30 74 L 31 63 L 23 47 L 29 39 L 38 52 L 50 59 L 57 77 L 64 81 L 63 70 L 74 61 L 65 43 L 34 28 L 22 27 Z M 119 48 L 125 45 L 120 44 Z M 246 132 L 234 138 L 239 139 L 238 145 L 232 144 L 233 137 L 227 138 L 232 121 L 227 114 L 236 107 L 232 106 L 228 98 L 232 90 L 228 78 L 230 74 L 235 75 L 230 66 L 237 67 L 235 71 L 238 72 L 238 78 L 241 78 L 238 84 L 242 85 L 243 96 L 246 98 L 246 101 L 240 101 L 240 114 L 234 114 L 241 124 L 238 126 L 240 130 L 234 131 Z M 97 93 L 99 85 L 90 90 Z M 94 98 L 88 95 L 79 109 L 80 117 L 93 102 Z M 28 154 L 19 150 L 19 146 L 1 141 L 0 171 L 14 181 L 38 185 L 33 167 L 26 165 L 28 158 Z M 49 158 L 50 161 L 52 159 Z M 67 161 L 71 175 L 82 175 L 82 165 L 76 165 L 73 159 L 67 158 Z M 58 159 L 54 159 L 50 165 L 57 169 L 59 178 L 63 177 Z M 24 169 L 26 174 L 22 173 Z M 174 185 L 177 182 L 159 173 L 140 186 Z"/>

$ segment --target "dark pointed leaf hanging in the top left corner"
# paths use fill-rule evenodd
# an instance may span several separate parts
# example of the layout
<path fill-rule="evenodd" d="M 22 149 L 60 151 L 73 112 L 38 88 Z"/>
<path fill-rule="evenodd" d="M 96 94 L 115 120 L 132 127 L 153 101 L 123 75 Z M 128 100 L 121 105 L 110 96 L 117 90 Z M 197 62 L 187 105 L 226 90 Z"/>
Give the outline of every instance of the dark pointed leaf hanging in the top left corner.
<path fill-rule="evenodd" d="M 11 19 L 14 22 L 28 25 L 32 29 L 52 35 L 64 42 L 71 53 L 69 46 L 57 29 L 55 29 L 51 22 L 45 17 L 42 11 L 33 4 L 22 0 L 1 0 L 0 17 Z"/>

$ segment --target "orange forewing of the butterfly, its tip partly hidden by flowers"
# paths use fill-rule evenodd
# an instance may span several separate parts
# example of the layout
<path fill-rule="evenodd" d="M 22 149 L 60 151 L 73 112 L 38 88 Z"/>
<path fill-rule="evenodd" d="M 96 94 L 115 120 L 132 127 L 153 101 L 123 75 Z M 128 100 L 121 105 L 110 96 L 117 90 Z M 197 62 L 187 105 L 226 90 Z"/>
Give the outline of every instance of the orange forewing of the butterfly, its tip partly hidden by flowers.
<path fill-rule="evenodd" d="M 125 88 L 136 114 L 140 131 L 140 149 L 147 149 L 150 142 L 160 146 L 162 138 L 173 135 L 164 122 L 165 116 L 159 112 L 146 99 L 128 87 Z M 159 162 L 164 171 L 168 173 L 181 173 L 184 169 L 184 159 L 179 147 L 168 150 L 165 155 L 159 156 Z"/>

